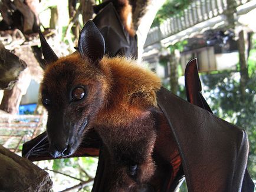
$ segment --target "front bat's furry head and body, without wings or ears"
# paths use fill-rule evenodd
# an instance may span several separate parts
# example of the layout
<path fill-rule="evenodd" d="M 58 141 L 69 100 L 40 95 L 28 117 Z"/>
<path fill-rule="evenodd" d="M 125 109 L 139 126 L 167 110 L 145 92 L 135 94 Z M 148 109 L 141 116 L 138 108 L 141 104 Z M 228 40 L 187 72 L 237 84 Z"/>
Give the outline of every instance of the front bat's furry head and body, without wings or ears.
<path fill-rule="evenodd" d="M 93 22 L 87 25 L 88 31 L 93 30 Z M 41 92 L 48 110 L 47 134 L 52 156 L 73 154 L 87 131 L 94 128 L 111 157 L 112 180 L 107 191 L 134 191 L 137 184 L 149 183 L 155 173 L 154 147 L 154 153 L 169 167 L 170 162 L 175 163 L 176 174 L 180 159 L 174 140 L 158 139 L 156 143 L 160 130 L 172 138 L 156 104 L 160 79 L 125 58 L 100 57 L 97 61 L 95 55 L 90 55 L 95 54 L 94 47 L 88 42 L 84 44 L 88 49 L 82 46 L 80 52 L 57 59 L 45 68 Z M 163 143 L 167 151 L 158 150 L 157 146 Z"/>

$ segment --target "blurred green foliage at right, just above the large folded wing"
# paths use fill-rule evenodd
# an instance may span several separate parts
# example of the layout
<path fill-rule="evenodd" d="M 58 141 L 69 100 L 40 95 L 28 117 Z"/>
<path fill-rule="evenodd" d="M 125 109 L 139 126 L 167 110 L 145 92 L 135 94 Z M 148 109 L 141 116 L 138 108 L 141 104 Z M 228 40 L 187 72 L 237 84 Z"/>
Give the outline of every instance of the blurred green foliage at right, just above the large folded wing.
<path fill-rule="evenodd" d="M 252 178 L 256 178 L 256 74 L 248 79 L 246 94 L 242 95 L 239 84 L 239 73 L 223 71 L 218 74 L 201 76 L 214 114 L 224 120 L 242 127 L 247 131 L 250 141 L 248 169 Z"/>

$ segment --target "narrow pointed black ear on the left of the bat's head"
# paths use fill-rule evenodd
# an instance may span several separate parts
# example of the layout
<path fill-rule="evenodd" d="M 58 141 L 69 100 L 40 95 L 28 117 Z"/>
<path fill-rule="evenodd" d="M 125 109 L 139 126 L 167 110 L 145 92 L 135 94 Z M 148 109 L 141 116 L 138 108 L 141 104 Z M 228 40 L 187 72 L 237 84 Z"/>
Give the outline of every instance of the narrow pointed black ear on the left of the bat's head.
<path fill-rule="evenodd" d="M 40 42 L 41 42 L 42 55 L 44 55 L 44 59 L 47 62 L 46 64 L 41 65 L 41 67 L 43 69 L 45 69 L 47 64 L 57 61 L 58 57 L 55 54 L 55 52 L 51 49 L 50 45 L 47 43 L 47 41 L 44 38 L 44 35 L 42 35 L 42 32 L 40 31 L 40 29 L 38 30 L 38 34 L 39 34 Z"/>

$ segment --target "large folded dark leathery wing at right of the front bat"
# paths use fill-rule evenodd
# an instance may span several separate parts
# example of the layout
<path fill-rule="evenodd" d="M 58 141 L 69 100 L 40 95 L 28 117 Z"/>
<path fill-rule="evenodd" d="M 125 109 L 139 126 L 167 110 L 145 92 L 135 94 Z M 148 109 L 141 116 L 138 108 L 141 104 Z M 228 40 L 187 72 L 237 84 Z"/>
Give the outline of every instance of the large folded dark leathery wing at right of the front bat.
<path fill-rule="evenodd" d="M 240 191 L 248 157 L 244 130 L 173 95 L 157 92 L 178 144 L 189 191 Z"/>

